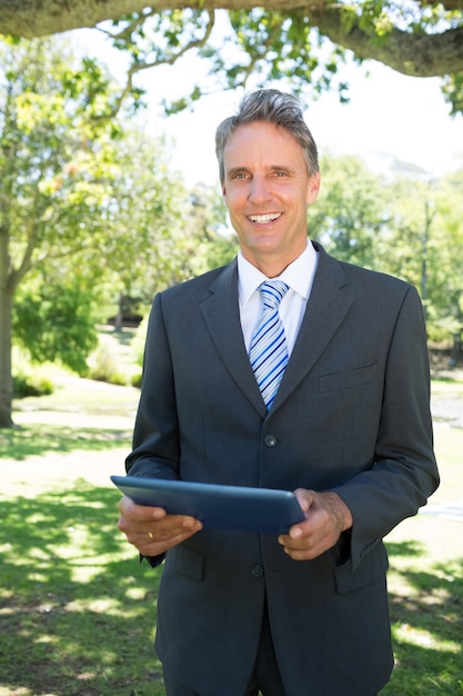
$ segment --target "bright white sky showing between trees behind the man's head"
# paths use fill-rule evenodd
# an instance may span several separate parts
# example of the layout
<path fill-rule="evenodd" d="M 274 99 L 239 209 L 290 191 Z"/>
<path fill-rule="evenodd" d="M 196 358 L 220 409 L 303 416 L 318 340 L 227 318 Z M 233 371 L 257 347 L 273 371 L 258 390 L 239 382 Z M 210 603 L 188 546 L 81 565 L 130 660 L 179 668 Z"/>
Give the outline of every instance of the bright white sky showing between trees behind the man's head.
<path fill-rule="evenodd" d="M 73 38 L 79 36 L 88 50 L 98 51 L 94 32 L 72 33 Z M 114 72 L 120 53 L 113 53 L 111 59 L 107 47 L 101 57 L 110 60 Z M 188 93 L 197 70 L 194 59 L 187 57 L 181 64 L 142 73 L 141 83 L 150 102 L 143 118 L 151 132 L 171 136 L 172 167 L 183 172 L 188 185 L 200 181 L 214 185 L 218 183 L 215 127 L 235 111 L 242 92 L 205 97 L 192 112 L 169 118 L 162 118 L 159 109 L 162 98 Z M 405 77 L 372 61 L 369 72 L 366 77 L 362 67 L 349 69 L 349 105 L 340 105 L 335 93 L 326 93 L 305 111 L 320 152 L 358 155 L 376 171 L 386 171 L 395 160 L 421 169 L 429 178 L 463 168 L 463 117 L 449 116 L 440 79 Z M 278 87 L 291 91 L 288 84 Z"/>

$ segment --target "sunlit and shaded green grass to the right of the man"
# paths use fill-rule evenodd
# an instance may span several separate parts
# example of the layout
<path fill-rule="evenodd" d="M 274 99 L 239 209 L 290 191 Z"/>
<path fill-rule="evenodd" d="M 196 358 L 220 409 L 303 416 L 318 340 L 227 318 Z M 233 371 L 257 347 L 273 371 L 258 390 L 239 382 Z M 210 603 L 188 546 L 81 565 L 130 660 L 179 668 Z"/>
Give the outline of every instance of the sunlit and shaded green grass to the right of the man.
<path fill-rule="evenodd" d="M 442 483 L 431 504 L 463 499 L 463 430 L 435 426 Z M 417 515 L 386 538 L 396 666 L 384 696 L 463 695 L 463 523 Z"/>

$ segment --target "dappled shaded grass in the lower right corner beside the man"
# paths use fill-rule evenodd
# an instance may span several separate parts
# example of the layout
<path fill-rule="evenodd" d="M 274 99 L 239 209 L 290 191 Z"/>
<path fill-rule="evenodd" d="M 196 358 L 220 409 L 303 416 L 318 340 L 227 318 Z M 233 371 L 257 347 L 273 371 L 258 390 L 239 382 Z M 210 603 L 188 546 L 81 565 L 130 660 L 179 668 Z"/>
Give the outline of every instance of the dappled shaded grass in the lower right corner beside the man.
<path fill-rule="evenodd" d="M 417 541 L 386 546 L 395 576 L 390 606 L 396 666 L 381 694 L 463 694 L 463 557 L 430 567 Z"/>

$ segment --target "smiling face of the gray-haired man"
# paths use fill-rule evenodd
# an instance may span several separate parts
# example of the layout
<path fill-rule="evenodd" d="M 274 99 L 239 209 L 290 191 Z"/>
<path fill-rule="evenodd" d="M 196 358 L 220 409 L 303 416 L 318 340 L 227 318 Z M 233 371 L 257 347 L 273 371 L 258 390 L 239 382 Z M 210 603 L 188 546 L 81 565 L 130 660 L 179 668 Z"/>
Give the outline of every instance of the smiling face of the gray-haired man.
<path fill-rule="evenodd" d="M 306 245 L 306 208 L 319 193 L 304 151 L 283 128 L 236 128 L 224 149 L 223 197 L 244 258 L 278 276 Z"/>

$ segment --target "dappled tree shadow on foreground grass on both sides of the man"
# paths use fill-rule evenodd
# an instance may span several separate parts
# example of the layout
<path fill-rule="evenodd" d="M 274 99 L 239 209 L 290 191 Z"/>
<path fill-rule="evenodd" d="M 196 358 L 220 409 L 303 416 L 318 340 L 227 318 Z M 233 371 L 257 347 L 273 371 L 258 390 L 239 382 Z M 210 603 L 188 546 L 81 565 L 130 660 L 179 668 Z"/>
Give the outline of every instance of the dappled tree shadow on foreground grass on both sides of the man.
<path fill-rule="evenodd" d="M 79 480 L 0 500 L 0 694 L 163 696 L 151 645 L 160 570 L 117 530 L 118 499 Z M 461 694 L 462 558 L 421 569 L 417 543 L 387 548 L 405 569 L 391 593 L 399 664 L 382 694 Z"/>

